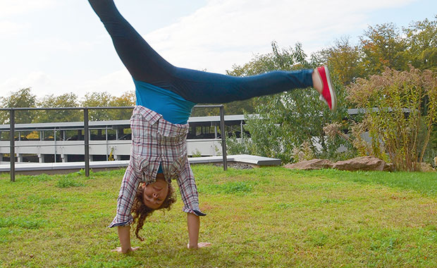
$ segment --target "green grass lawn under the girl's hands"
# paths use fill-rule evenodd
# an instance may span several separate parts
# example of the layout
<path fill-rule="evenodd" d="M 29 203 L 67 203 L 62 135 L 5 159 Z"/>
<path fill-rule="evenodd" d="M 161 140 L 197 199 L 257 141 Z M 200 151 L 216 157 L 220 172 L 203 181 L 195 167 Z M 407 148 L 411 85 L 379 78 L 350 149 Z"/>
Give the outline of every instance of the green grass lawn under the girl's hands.
<path fill-rule="evenodd" d="M 182 202 L 155 212 L 130 255 L 109 229 L 123 170 L 0 175 L 0 267 L 437 267 L 437 173 L 193 166 L 200 241 Z M 177 187 L 176 182 L 174 182 Z"/>

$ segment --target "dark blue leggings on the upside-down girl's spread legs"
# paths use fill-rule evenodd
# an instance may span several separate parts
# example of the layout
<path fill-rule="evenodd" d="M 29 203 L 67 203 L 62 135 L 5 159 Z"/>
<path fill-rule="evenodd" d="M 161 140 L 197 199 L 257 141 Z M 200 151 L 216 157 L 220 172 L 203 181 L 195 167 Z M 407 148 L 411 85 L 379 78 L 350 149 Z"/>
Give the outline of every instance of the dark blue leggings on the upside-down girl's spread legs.
<path fill-rule="evenodd" d="M 226 103 L 312 86 L 313 70 L 273 71 L 245 78 L 171 65 L 118 12 L 113 0 L 89 0 L 130 75 L 195 103 Z"/>

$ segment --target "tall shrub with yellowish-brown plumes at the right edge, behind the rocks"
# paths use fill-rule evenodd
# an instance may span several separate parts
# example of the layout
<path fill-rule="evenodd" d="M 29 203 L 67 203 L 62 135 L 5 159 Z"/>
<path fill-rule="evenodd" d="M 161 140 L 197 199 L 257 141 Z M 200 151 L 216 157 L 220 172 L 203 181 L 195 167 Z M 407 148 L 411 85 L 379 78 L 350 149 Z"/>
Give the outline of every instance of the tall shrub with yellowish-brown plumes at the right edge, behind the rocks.
<path fill-rule="evenodd" d="M 381 75 L 358 78 L 347 92 L 365 111 L 374 156 L 400 170 L 419 170 L 437 118 L 436 73 L 387 68 Z"/>

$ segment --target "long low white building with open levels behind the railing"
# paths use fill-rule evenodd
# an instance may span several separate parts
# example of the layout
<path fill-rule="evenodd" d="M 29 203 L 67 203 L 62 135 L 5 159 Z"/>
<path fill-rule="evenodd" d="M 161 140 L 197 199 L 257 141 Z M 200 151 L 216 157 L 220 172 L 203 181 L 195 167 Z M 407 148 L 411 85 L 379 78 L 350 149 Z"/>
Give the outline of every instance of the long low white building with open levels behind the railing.
<path fill-rule="evenodd" d="M 242 132 L 243 115 L 225 116 L 226 132 Z M 220 116 L 190 117 L 187 136 L 189 155 L 221 154 Z M 90 121 L 90 161 L 128 160 L 130 155 L 129 120 Z M 9 125 L 0 125 L 0 164 L 9 162 Z M 17 137 L 18 136 L 18 137 Z M 83 162 L 84 123 L 16 124 L 17 162 Z"/>

